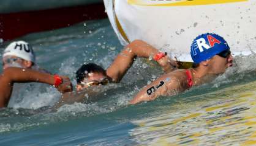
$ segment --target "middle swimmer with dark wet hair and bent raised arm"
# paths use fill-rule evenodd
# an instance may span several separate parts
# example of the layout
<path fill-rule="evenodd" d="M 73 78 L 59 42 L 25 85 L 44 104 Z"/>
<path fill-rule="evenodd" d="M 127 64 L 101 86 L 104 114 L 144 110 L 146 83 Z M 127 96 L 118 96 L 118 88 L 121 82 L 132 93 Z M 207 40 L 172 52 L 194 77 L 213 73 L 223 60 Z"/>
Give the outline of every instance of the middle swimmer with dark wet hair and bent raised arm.
<path fill-rule="evenodd" d="M 137 57 L 152 58 L 166 73 L 178 68 L 178 63 L 171 60 L 166 53 L 160 52 L 145 41 L 135 40 L 124 47 L 107 70 L 94 63 L 83 64 L 76 73 L 77 91 L 82 92 L 86 89 L 86 92 L 91 92 L 88 88 L 92 86 L 107 85 L 109 82 L 119 83 Z M 59 100 L 58 106 L 83 102 L 84 99 L 84 94 L 64 94 Z"/>

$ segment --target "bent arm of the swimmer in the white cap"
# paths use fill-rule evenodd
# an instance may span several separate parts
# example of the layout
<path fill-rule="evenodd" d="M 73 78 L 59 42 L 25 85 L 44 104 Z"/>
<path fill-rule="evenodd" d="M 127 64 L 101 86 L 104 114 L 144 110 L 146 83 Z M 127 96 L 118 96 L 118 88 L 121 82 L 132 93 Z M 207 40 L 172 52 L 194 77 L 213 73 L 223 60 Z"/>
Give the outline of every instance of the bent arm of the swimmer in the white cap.
<path fill-rule="evenodd" d="M 61 76 L 62 83 L 56 87 L 59 92 L 72 91 L 68 77 Z M 54 75 L 33 71 L 31 69 L 7 68 L 0 75 L 0 108 L 8 105 L 12 94 L 13 83 L 40 82 L 55 85 Z"/>

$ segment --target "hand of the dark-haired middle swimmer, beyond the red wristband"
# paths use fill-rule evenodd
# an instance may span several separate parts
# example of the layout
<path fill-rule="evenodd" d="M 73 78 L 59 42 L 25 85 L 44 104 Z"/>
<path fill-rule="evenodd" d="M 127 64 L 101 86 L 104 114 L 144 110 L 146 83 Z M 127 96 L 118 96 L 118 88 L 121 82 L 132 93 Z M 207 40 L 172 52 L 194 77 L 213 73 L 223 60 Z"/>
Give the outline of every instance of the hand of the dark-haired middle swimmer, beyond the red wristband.
<path fill-rule="evenodd" d="M 172 72 L 179 67 L 178 61 L 171 59 L 167 55 L 160 58 L 160 60 L 157 60 L 157 62 L 160 64 L 160 66 L 162 66 L 166 73 Z"/>

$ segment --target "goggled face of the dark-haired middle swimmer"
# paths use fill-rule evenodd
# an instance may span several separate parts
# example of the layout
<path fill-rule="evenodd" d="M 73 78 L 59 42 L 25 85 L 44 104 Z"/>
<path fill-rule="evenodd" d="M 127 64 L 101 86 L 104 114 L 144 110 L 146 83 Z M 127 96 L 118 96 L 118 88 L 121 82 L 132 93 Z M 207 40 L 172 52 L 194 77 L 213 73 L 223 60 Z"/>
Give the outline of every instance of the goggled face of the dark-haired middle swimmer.
<path fill-rule="evenodd" d="M 81 91 L 90 86 L 107 85 L 108 78 L 100 72 L 89 73 L 88 78 L 84 78 L 83 82 L 77 85 L 77 91 Z"/>

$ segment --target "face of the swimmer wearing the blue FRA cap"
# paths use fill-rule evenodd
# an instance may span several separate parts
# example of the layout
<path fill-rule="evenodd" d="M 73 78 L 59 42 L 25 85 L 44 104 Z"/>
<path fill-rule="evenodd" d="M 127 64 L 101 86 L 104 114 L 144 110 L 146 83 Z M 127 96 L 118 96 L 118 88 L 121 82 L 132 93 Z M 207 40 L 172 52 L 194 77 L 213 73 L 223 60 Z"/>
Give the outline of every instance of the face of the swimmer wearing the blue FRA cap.
<path fill-rule="evenodd" d="M 224 52 L 224 54 L 215 55 L 211 58 L 211 67 L 214 74 L 222 74 L 225 70 L 233 66 L 233 57 L 231 52 Z"/>

